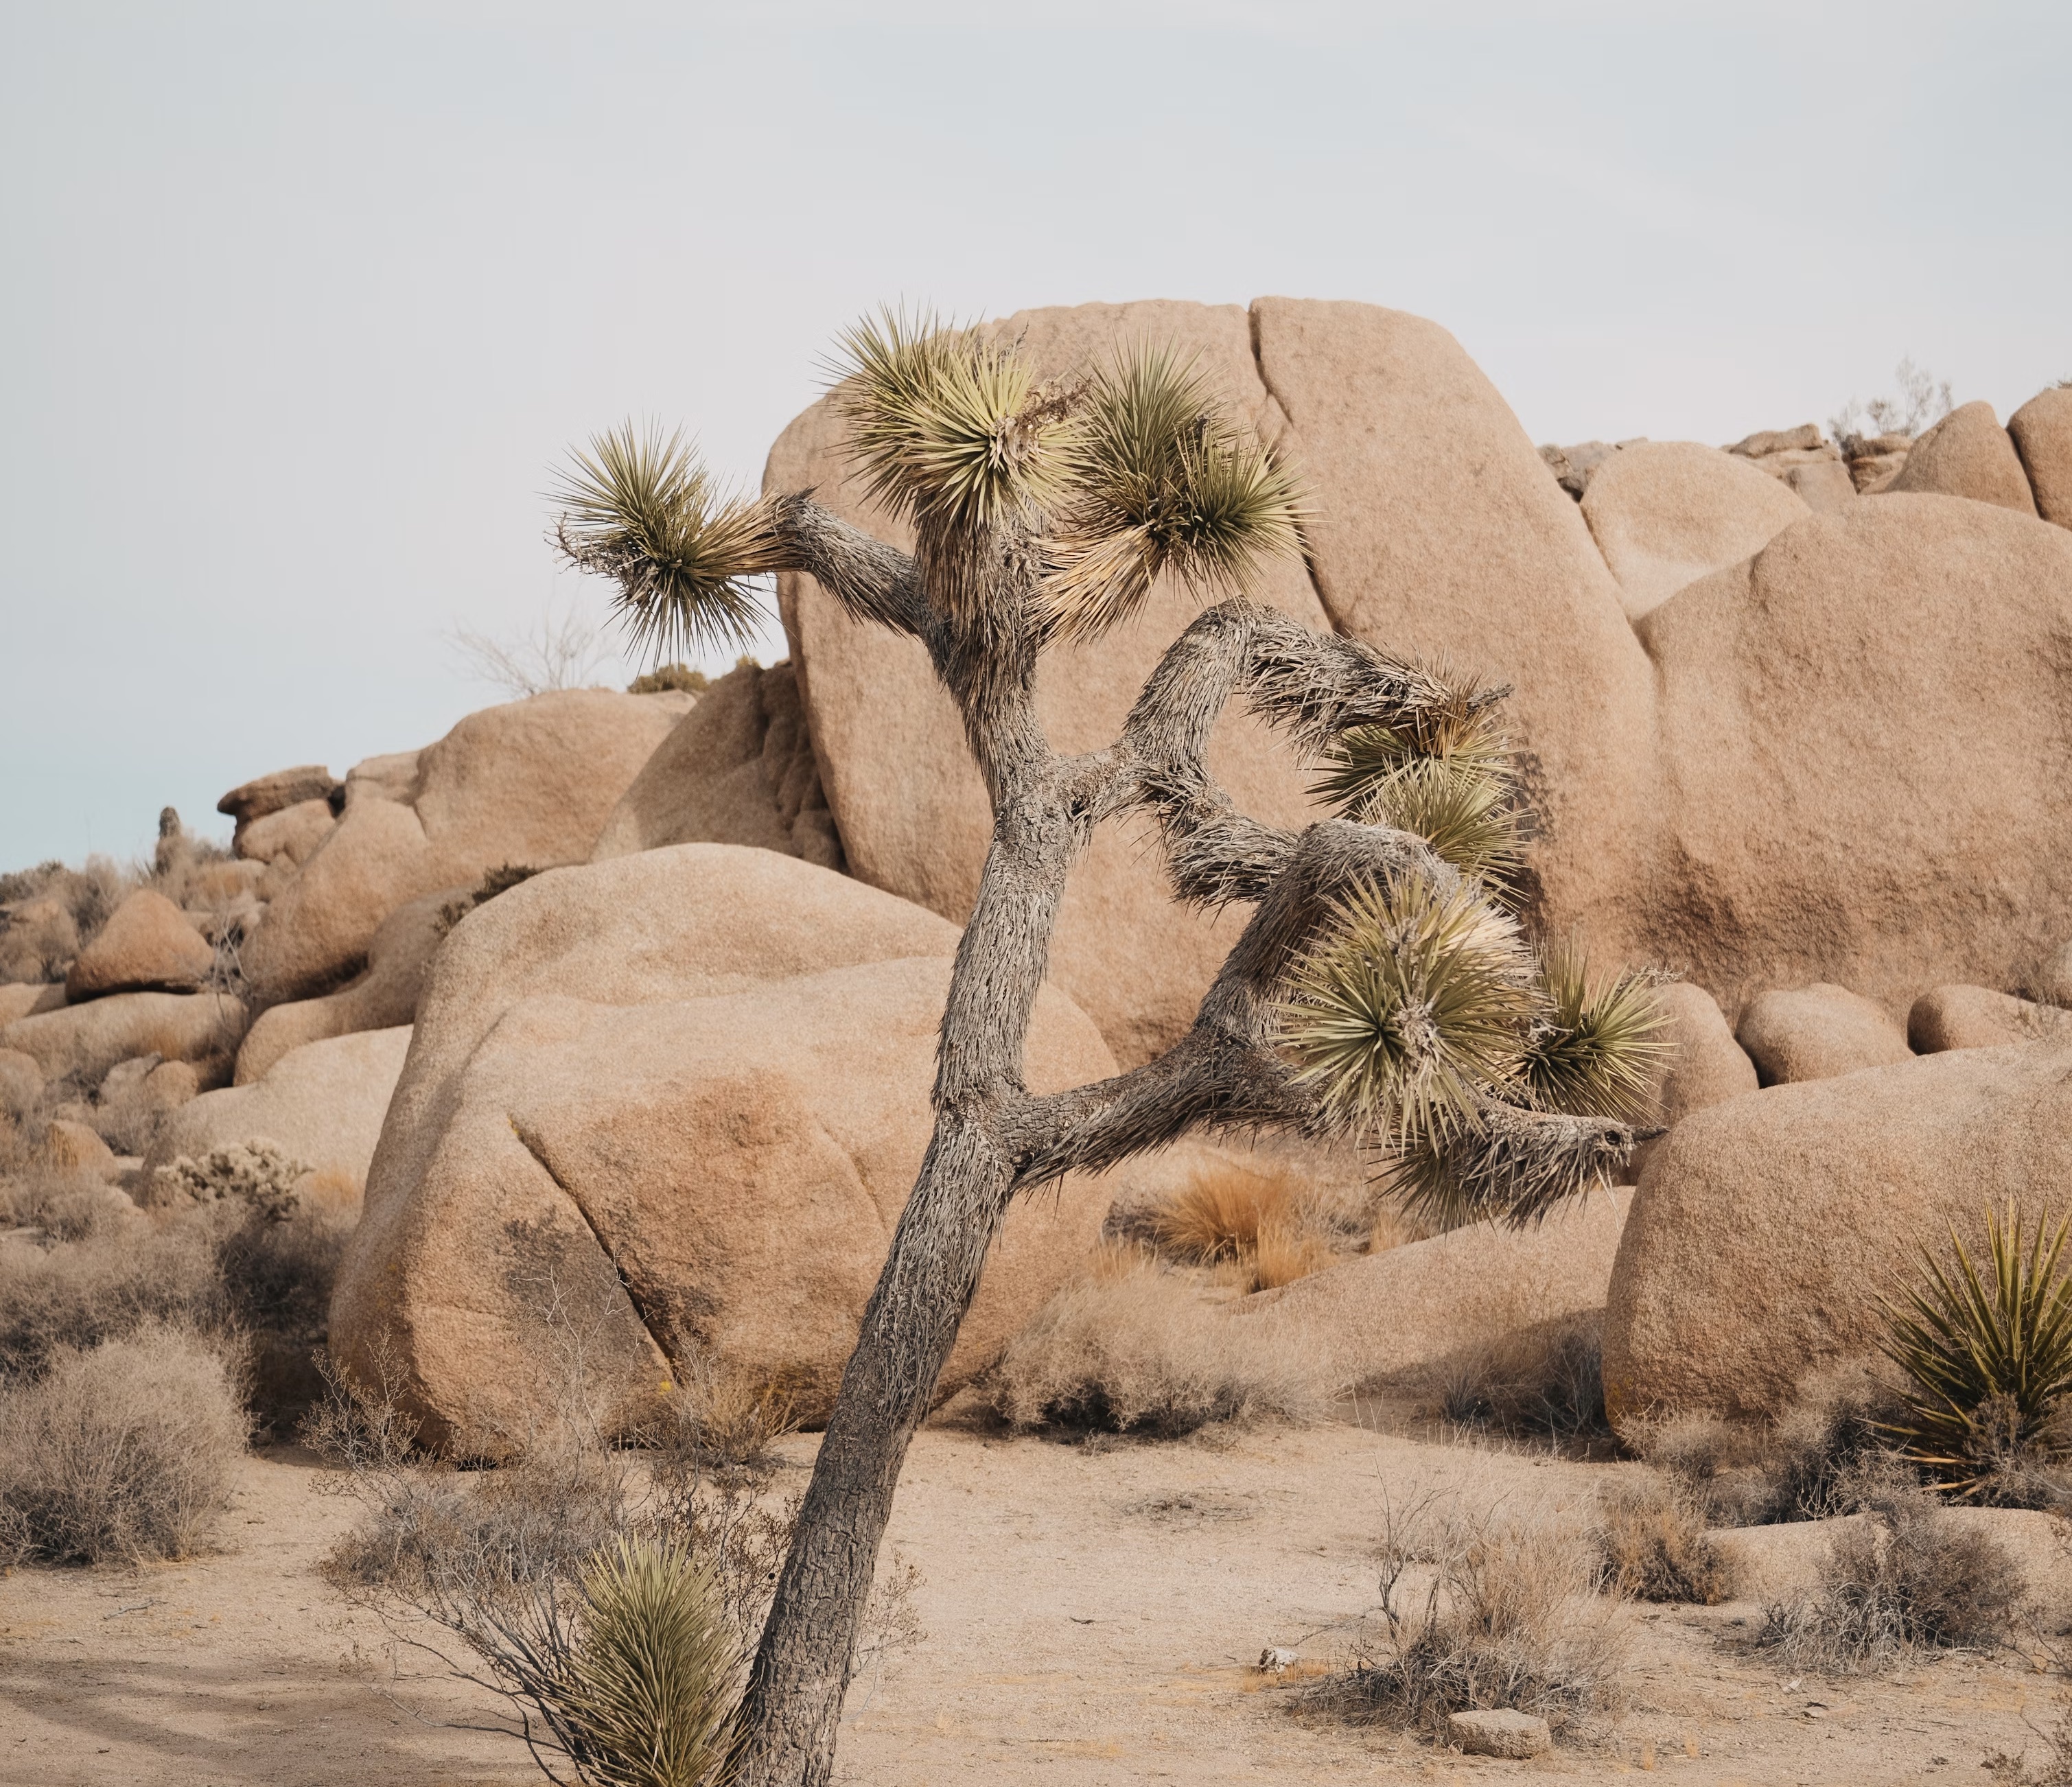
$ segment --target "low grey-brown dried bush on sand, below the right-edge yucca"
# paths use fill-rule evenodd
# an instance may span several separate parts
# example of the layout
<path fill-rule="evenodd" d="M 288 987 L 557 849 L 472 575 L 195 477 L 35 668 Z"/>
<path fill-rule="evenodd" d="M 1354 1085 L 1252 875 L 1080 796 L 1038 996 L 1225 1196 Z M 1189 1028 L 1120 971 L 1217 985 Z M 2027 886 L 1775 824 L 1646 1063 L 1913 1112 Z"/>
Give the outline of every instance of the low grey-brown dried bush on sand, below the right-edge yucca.
<path fill-rule="evenodd" d="M 1817 1592 L 1765 1609 L 1757 1644 L 1786 1669 L 1848 1675 L 1915 1650 L 2004 1644 L 2022 1594 L 1999 1541 L 1919 1485 L 1890 1487 L 1836 1534 Z"/>

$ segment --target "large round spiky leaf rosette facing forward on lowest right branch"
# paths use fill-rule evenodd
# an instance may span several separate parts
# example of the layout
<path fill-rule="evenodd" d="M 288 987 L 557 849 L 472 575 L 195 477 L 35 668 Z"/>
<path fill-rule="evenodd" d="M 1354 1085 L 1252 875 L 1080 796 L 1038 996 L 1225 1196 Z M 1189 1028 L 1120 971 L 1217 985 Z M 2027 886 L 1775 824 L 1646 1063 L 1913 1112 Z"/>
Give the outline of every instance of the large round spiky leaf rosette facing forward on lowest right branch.
<path fill-rule="evenodd" d="M 1390 1147 L 1471 1126 L 1531 1021 L 1517 926 L 1461 884 L 1355 886 L 1295 967 L 1280 1029 L 1326 1116 Z"/>

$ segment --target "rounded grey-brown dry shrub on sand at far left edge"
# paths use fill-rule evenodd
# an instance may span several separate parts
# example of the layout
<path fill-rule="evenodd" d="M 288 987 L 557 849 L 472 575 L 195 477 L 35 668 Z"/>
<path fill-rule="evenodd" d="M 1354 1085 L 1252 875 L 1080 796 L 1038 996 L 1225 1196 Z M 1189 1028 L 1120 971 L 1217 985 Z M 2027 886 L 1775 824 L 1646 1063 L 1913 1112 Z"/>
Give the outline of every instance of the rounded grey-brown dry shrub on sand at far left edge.
<path fill-rule="evenodd" d="M 207 1340 L 155 1327 L 56 1350 L 0 1389 L 0 1559 L 186 1557 L 230 1501 L 244 1433 Z"/>

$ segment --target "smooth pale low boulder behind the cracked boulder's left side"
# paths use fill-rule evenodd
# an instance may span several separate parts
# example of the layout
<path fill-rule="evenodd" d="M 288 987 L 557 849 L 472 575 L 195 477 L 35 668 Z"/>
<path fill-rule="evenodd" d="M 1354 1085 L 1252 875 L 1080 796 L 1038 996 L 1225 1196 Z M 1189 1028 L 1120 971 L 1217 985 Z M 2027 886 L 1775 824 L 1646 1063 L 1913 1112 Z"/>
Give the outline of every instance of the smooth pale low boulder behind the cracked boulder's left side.
<path fill-rule="evenodd" d="M 381 1118 L 410 1052 L 410 1027 L 373 1029 L 290 1050 L 251 1085 L 226 1085 L 180 1104 L 145 1153 L 151 1174 L 182 1153 L 265 1137 L 313 1172 L 367 1182 Z"/>

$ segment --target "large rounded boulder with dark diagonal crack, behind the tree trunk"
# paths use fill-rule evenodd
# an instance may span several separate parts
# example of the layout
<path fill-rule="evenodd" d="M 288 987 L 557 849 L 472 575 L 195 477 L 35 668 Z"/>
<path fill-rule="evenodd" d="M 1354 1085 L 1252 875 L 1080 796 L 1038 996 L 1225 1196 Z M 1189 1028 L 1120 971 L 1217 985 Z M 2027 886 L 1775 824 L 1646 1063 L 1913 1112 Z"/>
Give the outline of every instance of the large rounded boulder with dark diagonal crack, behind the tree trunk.
<path fill-rule="evenodd" d="M 332 1305 L 460 1452 L 553 1389 L 549 1298 L 638 1412 L 702 1360 L 825 1416 L 928 1141 L 957 932 L 777 851 L 675 845 L 535 876 L 454 932 Z M 1032 1087 L 1113 1071 L 1063 994 Z M 941 1394 L 1069 1276 L 1129 1170 L 1017 1201 Z"/>

